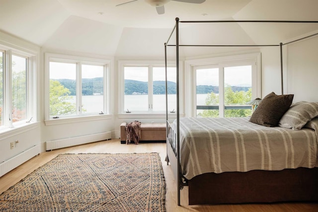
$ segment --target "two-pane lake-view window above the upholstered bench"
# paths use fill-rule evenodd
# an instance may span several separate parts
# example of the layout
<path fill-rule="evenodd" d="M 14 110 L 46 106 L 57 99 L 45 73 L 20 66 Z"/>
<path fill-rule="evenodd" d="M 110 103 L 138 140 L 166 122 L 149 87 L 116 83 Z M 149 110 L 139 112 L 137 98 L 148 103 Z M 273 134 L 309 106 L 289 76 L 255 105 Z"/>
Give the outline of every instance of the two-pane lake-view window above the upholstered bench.
<path fill-rule="evenodd" d="M 121 64 L 122 113 L 165 113 L 165 67 Z M 167 68 L 168 111 L 176 111 L 176 69 Z"/>

